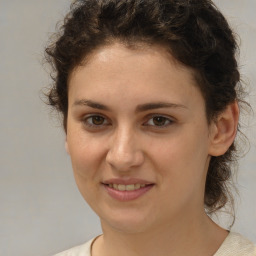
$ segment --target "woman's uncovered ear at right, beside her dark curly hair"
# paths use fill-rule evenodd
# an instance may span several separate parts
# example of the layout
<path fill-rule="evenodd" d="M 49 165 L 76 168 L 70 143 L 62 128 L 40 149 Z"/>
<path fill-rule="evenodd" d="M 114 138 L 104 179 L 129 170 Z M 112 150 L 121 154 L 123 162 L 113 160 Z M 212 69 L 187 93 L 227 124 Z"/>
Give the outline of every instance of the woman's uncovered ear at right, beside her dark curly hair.
<path fill-rule="evenodd" d="M 217 120 L 213 121 L 210 127 L 210 148 L 209 155 L 224 155 L 232 145 L 239 120 L 239 107 L 237 101 L 229 104 L 221 112 Z"/>

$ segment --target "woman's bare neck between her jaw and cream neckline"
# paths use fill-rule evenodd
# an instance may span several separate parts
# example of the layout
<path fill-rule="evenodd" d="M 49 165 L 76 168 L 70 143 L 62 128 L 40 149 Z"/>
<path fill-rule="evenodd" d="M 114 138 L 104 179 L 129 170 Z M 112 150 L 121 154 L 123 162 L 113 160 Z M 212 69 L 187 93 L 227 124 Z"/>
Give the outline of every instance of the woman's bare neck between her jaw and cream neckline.
<path fill-rule="evenodd" d="M 94 246 L 92 256 L 213 255 L 227 236 L 204 212 L 201 216 L 183 216 L 142 232 L 121 232 L 102 221 L 103 236 Z"/>

